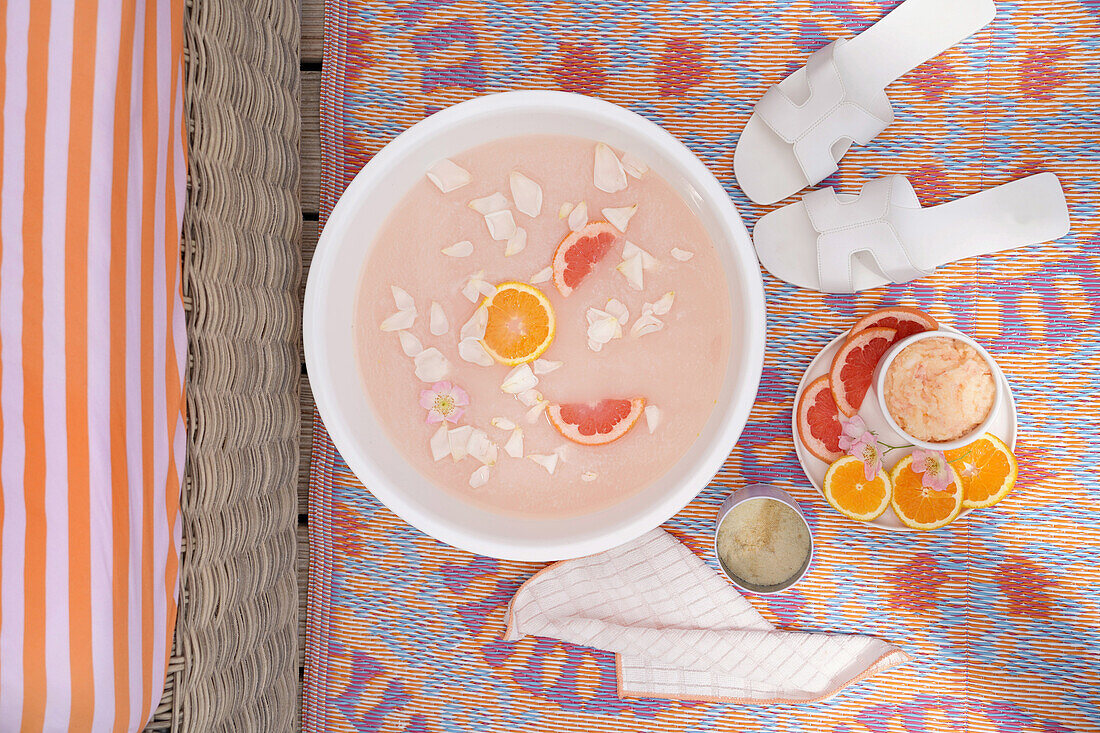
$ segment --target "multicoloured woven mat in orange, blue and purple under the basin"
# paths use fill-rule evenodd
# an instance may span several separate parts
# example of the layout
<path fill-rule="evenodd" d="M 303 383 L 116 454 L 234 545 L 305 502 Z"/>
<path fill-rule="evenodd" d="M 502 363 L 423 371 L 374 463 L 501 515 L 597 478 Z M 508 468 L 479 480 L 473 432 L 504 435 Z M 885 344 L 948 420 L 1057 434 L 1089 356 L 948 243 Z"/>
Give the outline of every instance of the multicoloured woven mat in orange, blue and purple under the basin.
<path fill-rule="evenodd" d="M 330 0 L 322 207 L 397 132 L 435 110 L 520 88 L 595 95 L 682 139 L 751 228 L 767 209 L 733 177 L 765 89 L 877 0 L 642 2 Z M 858 296 L 766 275 L 760 394 L 714 483 L 666 526 L 702 557 L 730 488 L 772 482 L 809 510 L 821 549 L 798 589 L 752 603 L 780 626 L 899 643 L 904 667 L 812 705 L 620 700 L 610 655 L 501 641 L 536 566 L 453 550 L 397 519 L 315 440 L 307 731 L 1100 730 L 1100 3 L 998 3 L 990 28 L 890 88 L 897 121 L 828 184 L 904 173 L 927 205 L 1053 171 L 1072 233 Z M 904 302 L 992 348 L 1020 408 L 1019 488 L 930 534 L 860 529 L 806 483 L 790 430 L 810 359 L 853 319 Z M 319 425 L 319 423 L 318 423 Z"/>

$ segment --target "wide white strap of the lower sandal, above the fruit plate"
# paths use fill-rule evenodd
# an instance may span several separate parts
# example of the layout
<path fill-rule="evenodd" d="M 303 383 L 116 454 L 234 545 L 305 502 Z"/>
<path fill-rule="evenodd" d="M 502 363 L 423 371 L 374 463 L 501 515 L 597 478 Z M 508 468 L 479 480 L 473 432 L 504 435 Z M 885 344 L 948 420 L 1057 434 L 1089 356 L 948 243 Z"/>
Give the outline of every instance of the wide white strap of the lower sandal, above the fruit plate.
<path fill-rule="evenodd" d="M 908 283 L 931 271 L 916 266 L 891 222 L 899 209 L 921 208 L 913 186 L 904 176 L 868 182 L 859 196 L 840 201 L 833 188 L 802 197 L 810 222 L 817 231 L 817 276 L 825 293 L 851 293 L 851 258 L 866 252 L 883 276 Z"/>

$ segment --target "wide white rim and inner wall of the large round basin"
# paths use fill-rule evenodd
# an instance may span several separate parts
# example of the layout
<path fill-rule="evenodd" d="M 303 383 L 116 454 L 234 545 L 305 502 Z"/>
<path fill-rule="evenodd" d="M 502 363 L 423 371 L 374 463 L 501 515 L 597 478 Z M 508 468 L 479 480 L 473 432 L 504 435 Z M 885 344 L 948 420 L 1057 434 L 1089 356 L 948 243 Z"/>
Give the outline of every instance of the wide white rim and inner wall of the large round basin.
<path fill-rule="evenodd" d="M 386 215 L 433 163 L 527 134 L 602 140 L 645 160 L 711 236 L 729 287 L 732 349 L 717 404 L 695 444 L 664 475 L 600 512 L 503 516 L 426 481 L 389 441 L 360 376 L 352 314 L 360 273 Z M 309 269 L 304 311 L 309 381 L 324 427 L 371 493 L 409 524 L 455 547 L 516 560 L 559 560 L 629 541 L 674 515 L 722 468 L 756 398 L 763 365 L 765 300 L 745 225 L 714 175 L 675 138 L 629 110 L 554 91 L 479 97 L 436 112 L 386 145 L 332 209 Z"/>

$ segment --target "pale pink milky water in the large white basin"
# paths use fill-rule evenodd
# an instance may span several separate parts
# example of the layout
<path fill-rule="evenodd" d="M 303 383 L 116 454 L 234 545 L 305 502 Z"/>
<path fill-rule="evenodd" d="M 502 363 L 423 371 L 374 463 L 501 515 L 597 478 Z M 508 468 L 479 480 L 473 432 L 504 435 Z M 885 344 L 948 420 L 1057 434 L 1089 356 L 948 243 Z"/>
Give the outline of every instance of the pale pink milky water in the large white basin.
<path fill-rule="evenodd" d="M 673 188 L 652 171 L 640 179 L 628 178 L 626 189 L 606 194 L 593 184 L 595 142 L 571 136 L 522 136 L 499 140 L 466 151 L 451 160 L 468 169 L 473 180 L 442 194 L 421 179 L 386 219 L 367 258 L 354 319 L 363 383 L 386 427 L 388 437 L 427 481 L 491 510 L 521 515 L 568 516 L 597 511 L 622 501 L 668 471 L 696 439 L 711 415 L 725 375 L 730 349 L 729 296 L 717 253 L 703 226 Z M 531 218 L 515 209 L 509 174 L 519 171 L 542 188 L 542 209 Z M 519 227 L 527 230 L 526 249 L 504 255 L 504 242 L 493 241 L 483 217 L 469 208 L 471 199 L 504 194 Z M 553 305 L 557 336 L 543 359 L 563 362 L 557 371 L 541 375 L 536 387 L 550 402 L 575 403 L 605 397 L 645 397 L 661 413 L 651 434 L 645 417 L 622 439 L 605 446 L 570 442 L 541 416 L 525 419 L 527 407 L 502 392 L 510 366 L 479 366 L 459 357 L 459 329 L 475 310 L 461 289 L 468 277 L 485 271 L 485 280 L 529 281 L 547 267 L 561 240 L 569 234 L 559 218 L 565 201 L 584 200 L 592 221 L 604 220 L 601 209 L 638 205 L 626 236 L 659 261 L 645 273 L 645 288 L 631 289 L 616 271 L 622 262 L 622 241 L 568 297 L 552 282 L 537 285 Z M 461 241 L 474 243 L 466 258 L 451 258 L 441 249 Z M 674 259 L 673 248 L 694 253 L 686 262 Z M 450 362 L 446 379 L 461 385 L 471 404 L 461 425 L 485 430 L 502 450 L 490 469 L 488 482 L 470 486 L 470 477 L 481 463 L 465 458 L 432 459 L 429 440 L 438 425 L 425 422 L 418 404 L 427 384 L 414 374 L 413 360 L 400 348 L 396 332 L 384 332 L 380 324 L 395 311 L 391 285 L 405 288 L 419 315 L 409 329 L 425 347 L 438 348 Z M 671 311 L 661 319 L 664 328 L 631 338 L 629 327 L 646 302 L 675 293 Z M 596 353 L 587 344 L 585 313 L 603 308 L 618 298 L 629 309 L 624 337 Z M 428 327 L 431 302 L 442 305 L 449 332 L 432 336 Z M 553 474 L 525 458 L 512 458 L 503 446 L 508 433 L 491 426 L 505 417 L 524 430 L 527 453 L 558 451 Z M 583 474 L 595 474 L 585 481 Z"/>

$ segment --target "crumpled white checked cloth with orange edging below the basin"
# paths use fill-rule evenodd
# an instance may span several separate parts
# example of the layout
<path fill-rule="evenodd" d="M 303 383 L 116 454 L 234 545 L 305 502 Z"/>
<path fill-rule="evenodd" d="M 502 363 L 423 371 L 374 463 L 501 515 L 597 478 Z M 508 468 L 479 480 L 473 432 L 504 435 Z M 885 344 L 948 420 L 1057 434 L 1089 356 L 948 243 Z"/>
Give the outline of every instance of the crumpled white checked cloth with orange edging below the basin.
<path fill-rule="evenodd" d="M 872 636 L 777 631 L 663 529 L 520 587 L 505 639 L 614 652 L 620 697 L 814 702 L 910 659 Z"/>

